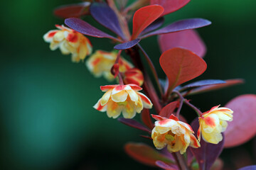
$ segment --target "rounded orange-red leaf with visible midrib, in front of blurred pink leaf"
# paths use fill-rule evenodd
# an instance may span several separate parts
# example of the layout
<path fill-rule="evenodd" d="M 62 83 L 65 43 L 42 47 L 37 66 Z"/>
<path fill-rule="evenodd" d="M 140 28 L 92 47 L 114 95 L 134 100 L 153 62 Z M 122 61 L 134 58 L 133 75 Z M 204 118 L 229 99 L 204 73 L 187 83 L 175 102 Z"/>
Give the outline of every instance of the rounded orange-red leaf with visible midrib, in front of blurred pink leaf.
<path fill-rule="evenodd" d="M 169 91 L 206 71 L 206 62 L 182 48 L 167 50 L 160 57 L 161 68 L 169 79 Z"/>

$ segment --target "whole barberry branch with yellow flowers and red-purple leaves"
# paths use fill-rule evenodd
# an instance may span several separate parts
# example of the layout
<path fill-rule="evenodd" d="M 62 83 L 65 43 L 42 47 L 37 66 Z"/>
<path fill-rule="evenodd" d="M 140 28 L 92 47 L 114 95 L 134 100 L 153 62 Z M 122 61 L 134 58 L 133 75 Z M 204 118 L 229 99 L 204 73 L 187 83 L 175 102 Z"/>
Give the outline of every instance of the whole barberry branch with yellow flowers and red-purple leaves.
<path fill-rule="evenodd" d="M 250 119 L 250 114 L 243 115 L 246 111 L 242 108 L 255 106 L 256 97 L 242 95 L 226 107 L 213 106 L 204 113 L 187 99 L 189 95 L 242 83 L 241 79 L 207 79 L 183 85 L 206 71 L 207 64 L 202 59 L 206 47 L 194 29 L 211 23 L 203 18 L 190 18 L 162 25 L 165 15 L 188 2 L 139 0 L 127 6 L 127 0 L 98 0 L 60 6 L 55 9 L 55 15 L 65 18 L 68 27 L 56 25 L 58 30 L 48 31 L 43 38 L 50 43 L 50 50 L 59 48 L 63 55 L 71 55 L 73 62 L 84 62 L 90 56 L 85 65 L 95 77 L 117 80 L 118 84 L 100 86 L 105 94 L 93 107 L 109 118 L 118 118 L 121 123 L 148 132 L 149 135 L 142 137 L 152 140 L 159 150 L 142 143 L 128 143 L 125 151 L 131 157 L 162 169 L 221 169 L 218 157 L 223 147 L 241 145 L 256 133 L 251 123 L 245 125 L 239 120 L 241 116 Z M 91 15 L 116 36 L 80 19 L 84 15 Z M 132 32 L 128 27 L 131 18 Z M 114 50 L 97 50 L 92 54 L 92 45 L 85 35 L 109 38 Z M 159 36 L 163 52 L 159 62 L 166 80 L 159 79 L 151 57 L 139 44 L 153 35 Z M 126 53 L 132 63 L 125 60 L 122 53 Z M 145 67 L 149 67 L 153 77 Z M 186 114 L 180 114 L 184 105 L 197 115 L 190 125 L 186 122 Z M 151 108 L 155 112 L 149 110 Z M 142 117 L 141 123 L 132 119 L 137 113 Z M 156 121 L 153 123 L 151 118 Z M 238 134 L 236 131 L 242 128 L 250 132 L 240 133 L 239 139 L 232 140 L 233 135 Z"/>

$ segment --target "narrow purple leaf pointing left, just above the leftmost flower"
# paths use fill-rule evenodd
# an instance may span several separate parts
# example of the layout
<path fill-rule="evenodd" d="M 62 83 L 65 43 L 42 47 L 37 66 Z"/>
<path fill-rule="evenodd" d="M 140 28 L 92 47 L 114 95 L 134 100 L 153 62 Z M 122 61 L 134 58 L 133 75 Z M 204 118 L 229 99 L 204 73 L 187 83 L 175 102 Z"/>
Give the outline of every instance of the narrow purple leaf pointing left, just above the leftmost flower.
<path fill-rule="evenodd" d="M 111 35 L 108 35 L 107 33 L 102 32 L 101 30 L 98 30 L 94 26 L 91 26 L 89 23 L 82 21 L 79 18 L 68 18 L 65 19 L 65 24 L 72 28 L 73 30 L 78 31 L 79 33 L 90 35 L 92 37 L 97 38 L 110 38 L 112 40 L 120 41 L 117 38 L 112 37 Z"/>

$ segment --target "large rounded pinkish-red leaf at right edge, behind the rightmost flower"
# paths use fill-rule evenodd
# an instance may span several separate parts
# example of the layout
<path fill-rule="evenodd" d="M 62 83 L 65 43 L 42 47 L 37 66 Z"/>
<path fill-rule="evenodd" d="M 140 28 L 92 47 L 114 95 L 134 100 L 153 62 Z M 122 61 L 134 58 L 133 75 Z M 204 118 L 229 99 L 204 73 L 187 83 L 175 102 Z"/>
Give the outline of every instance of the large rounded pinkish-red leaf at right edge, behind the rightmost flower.
<path fill-rule="evenodd" d="M 225 147 L 242 145 L 256 135 L 256 95 L 245 94 L 233 98 L 228 104 L 233 113 L 233 121 L 225 130 Z"/>

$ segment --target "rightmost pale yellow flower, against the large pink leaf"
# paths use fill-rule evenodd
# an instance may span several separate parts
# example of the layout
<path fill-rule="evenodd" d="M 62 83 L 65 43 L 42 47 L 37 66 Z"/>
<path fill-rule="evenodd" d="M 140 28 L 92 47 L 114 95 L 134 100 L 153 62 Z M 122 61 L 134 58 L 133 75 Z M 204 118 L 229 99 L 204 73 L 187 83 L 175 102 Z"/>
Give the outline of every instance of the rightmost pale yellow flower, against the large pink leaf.
<path fill-rule="evenodd" d="M 198 139 L 200 141 L 201 133 L 203 140 L 213 144 L 218 144 L 223 140 L 221 132 L 228 127 L 227 121 L 233 120 L 233 111 L 229 108 L 219 108 L 215 106 L 203 113 L 199 118 Z"/>

